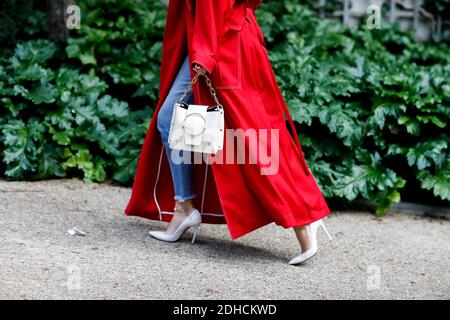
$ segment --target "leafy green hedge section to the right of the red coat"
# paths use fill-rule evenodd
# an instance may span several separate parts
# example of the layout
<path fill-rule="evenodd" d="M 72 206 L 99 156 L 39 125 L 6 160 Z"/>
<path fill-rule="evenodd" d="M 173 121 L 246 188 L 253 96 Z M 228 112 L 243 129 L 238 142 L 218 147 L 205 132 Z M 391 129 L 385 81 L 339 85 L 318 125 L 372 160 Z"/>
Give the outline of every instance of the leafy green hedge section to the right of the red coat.
<path fill-rule="evenodd" d="M 395 25 L 350 30 L 292 1 L 264 9 L 271 61 L 326 195 L 383 212 L 407 182 L 450 200 L 450 48 Z"/>

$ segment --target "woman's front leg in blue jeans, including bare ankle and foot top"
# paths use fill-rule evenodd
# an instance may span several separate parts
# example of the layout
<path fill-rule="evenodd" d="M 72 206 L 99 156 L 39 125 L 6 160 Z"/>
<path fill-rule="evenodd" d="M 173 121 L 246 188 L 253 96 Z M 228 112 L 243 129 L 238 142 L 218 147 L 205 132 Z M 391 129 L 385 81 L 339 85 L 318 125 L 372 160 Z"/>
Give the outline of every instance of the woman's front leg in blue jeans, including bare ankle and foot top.
<path fill-rule="evenodd" d="M 192 199 L 196 197 L 192 177 L 192 164 L 190 163 L 190 152 L 184 150 L 172 150 L 168 142 L 173 107 L 191 82 L 189 71 L 189 57 L 187 56 L 178 71 L 166 100 L 159 110 L 157 119 L 157 128 L 166 150 L 175 190 L 175 213 L 177 214 L 174 215 L 167 228 L 168 233 L 174 231 L 178 225 L 183 222 L 185 217 L 194 210 Z M 186 96 L 184 101 L 187 103 L 193 102 L 192 92 Z M 185 163 L 183 160 L 179 163 L 180 159 L 187 159 L 189 162 Z"/>

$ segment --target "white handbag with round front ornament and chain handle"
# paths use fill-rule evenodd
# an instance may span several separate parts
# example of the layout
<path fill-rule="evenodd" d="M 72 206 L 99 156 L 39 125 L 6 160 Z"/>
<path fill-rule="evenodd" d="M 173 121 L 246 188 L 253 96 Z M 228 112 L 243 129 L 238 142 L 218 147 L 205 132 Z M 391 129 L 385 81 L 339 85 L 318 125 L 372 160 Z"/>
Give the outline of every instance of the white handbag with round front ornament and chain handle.
<path fill-rule="evenodd" d="M 224 111 L 217 99 L 216 91 L 206 74 L 206 83 L 216 105 L 195 105 L 183 102 L 192 91 L 200 74 L 196 74 L 181 98 L 175 103 L 169 131 L 171 149 L 216 154 L 222 150 L 224 141 Z"/>

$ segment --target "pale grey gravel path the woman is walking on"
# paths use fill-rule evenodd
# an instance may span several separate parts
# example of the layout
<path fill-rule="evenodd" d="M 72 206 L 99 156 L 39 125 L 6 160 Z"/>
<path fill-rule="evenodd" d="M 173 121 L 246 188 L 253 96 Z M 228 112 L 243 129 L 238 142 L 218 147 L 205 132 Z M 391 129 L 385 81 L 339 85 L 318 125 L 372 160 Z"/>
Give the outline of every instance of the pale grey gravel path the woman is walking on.
<path fill-rule="evenodd" d="M 177 243 L 164 224 L 125 217 L 129 188 L 0 180 L 0 299 L 449 299 L 450 221 L 361 213 L 327 219 L 304 266 L 292 230 L 271 224 L 232 241 L 203 225 Z M 70 236 L 73 227 L 86 236 Z"/>

